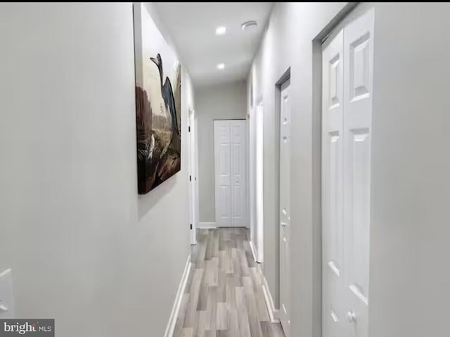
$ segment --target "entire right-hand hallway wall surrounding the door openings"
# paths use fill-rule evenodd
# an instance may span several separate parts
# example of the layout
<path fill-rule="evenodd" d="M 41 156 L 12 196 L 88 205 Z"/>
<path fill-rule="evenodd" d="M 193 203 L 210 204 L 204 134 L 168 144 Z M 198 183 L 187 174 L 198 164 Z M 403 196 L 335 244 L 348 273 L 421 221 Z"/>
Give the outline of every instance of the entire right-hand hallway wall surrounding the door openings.
<path fill-rule="evenodd" d="M 248 77 L 255 101 L 264 100 L 264 274 L 276 297 L 271 126 L 275 83 L 291 67 L 293 336 L 321 336 L 320 106 L 313 94 L 320 90 L 313 59 L 320 69 L 321 56 L 312 41 L 344 6 L 276 4 Z M 361 6 L 375 7 L 369 336 L 447 336 L 450 5 Z"/>

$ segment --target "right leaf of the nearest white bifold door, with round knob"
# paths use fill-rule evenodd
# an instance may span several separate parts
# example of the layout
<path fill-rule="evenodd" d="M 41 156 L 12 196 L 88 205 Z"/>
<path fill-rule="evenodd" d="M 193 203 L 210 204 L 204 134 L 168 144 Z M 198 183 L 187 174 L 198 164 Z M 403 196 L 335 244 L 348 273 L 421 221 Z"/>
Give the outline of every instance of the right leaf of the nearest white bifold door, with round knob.
<path fill-rule="evenodd" d="M 349 336 L 368 336 L 373 10 L 345 26 L 344 223 Z"/>

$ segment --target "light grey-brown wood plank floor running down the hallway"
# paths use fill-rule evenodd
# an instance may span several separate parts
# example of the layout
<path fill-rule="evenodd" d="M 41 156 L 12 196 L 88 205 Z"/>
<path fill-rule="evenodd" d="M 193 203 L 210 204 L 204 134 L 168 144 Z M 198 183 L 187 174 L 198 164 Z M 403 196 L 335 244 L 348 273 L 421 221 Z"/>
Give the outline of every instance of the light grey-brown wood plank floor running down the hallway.
<path fill-rule="evenodd" d="M 271 323 L 248 229 L 200 229 L 174 337 L 284 337 Z"/>

